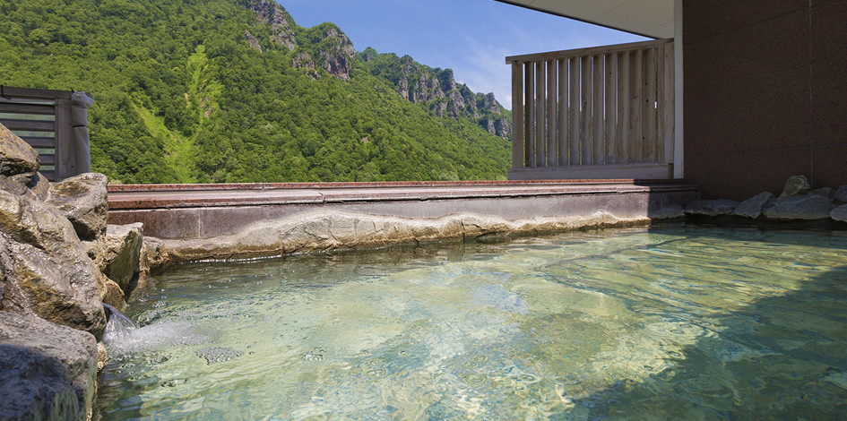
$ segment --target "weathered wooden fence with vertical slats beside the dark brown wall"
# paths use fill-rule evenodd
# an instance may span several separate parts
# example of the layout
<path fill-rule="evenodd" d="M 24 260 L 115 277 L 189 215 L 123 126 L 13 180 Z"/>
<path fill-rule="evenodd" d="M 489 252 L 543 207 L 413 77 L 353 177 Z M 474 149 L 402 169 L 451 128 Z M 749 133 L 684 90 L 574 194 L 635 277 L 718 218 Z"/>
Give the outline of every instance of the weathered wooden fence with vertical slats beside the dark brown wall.
<path fill-rule="evenodd" d="M 510 179 L 673 177 L 673 39 L 506 57 Z"/>

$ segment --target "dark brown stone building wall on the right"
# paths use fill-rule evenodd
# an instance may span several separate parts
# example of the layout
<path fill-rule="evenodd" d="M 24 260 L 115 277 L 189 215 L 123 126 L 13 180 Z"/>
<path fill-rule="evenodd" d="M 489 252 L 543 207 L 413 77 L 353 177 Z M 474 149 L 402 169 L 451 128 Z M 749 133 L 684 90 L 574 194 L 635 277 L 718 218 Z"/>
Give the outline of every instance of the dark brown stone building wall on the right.
<path fill-rule="evenodd" d="M 706 199 L 847 185 L 847 0 L 687 0 L 685 177 Z"/>

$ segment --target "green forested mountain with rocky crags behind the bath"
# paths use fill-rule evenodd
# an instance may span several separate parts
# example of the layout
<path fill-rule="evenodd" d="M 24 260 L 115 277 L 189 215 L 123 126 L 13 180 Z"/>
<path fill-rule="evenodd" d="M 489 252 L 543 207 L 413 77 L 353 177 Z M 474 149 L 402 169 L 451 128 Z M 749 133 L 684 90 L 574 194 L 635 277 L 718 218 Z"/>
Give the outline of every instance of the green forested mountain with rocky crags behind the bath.
<path fill-rule="evenodd" d="M 506 177 L 493 97 L 272 1 L 0 0 L 0 16 L 0 83 L 91 92 L 91 167 L 112 182 Z"/>

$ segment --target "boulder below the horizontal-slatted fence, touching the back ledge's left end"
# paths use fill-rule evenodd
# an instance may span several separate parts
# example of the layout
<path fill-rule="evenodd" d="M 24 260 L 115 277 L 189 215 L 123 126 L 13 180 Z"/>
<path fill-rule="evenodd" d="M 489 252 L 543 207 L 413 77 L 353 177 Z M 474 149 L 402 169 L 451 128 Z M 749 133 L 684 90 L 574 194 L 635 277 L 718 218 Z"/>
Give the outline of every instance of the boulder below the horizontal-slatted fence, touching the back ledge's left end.
<path fill-rule="evenodd" d="M 86 173 L 50 186 L 48 203 L 70 219 L 82 240 L 106 234 L 108 200 L 106 176 Z"/>

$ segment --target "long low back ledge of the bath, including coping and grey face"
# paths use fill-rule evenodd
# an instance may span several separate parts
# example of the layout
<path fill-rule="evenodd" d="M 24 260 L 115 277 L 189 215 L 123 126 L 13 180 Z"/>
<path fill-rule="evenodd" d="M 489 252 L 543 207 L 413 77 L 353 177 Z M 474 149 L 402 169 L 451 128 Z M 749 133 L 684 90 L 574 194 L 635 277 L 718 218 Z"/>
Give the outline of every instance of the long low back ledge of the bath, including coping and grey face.
<path fill-rule="evenodd" d="M 109 223 L 144 235 L 200 239 L 315 211 L 410 219 L 475 214 L 505 220 L 670 215 L 699 199 L 694 185 L 634 180 L 109 186 Z"/>

